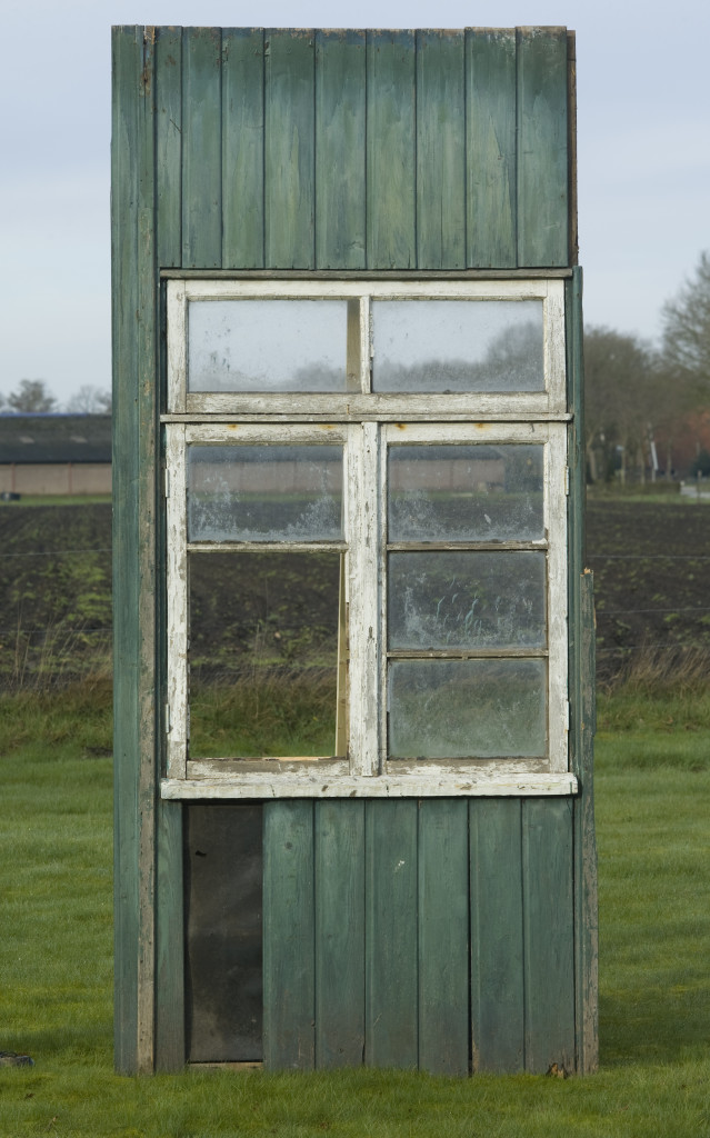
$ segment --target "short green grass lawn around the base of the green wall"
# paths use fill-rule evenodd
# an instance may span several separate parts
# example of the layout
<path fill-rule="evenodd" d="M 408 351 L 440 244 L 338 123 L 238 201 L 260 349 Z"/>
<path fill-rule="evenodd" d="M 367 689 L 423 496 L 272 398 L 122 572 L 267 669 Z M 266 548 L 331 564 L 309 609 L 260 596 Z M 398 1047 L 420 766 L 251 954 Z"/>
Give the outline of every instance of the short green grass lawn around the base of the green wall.
<path fill-rule="evenodd" d="M 0 701 L 0 1136 L 710 1136 L 710 699 L 606 698 L 601 1070 L 113 1073 L 106 693 Z"/>

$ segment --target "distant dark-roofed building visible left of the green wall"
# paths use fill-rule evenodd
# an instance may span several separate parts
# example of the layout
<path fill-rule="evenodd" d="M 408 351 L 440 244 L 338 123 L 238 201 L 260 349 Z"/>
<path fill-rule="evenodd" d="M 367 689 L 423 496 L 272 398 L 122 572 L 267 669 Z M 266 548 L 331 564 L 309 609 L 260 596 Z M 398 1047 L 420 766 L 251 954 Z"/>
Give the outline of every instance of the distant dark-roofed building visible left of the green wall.
<path fill-rule="evenodd" d="M 0 415 L 0 494 L 110 494 L 110 415 Z"/>

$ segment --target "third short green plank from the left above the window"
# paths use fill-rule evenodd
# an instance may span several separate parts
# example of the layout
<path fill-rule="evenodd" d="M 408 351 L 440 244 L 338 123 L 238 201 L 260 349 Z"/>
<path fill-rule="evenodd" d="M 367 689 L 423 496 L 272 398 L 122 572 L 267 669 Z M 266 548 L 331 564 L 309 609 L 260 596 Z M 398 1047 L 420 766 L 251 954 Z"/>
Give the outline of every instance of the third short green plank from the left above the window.
<path fill-rule="evenodd" d="M 222 32 L 222 264 L 264 265 L 264 32 Z"/>

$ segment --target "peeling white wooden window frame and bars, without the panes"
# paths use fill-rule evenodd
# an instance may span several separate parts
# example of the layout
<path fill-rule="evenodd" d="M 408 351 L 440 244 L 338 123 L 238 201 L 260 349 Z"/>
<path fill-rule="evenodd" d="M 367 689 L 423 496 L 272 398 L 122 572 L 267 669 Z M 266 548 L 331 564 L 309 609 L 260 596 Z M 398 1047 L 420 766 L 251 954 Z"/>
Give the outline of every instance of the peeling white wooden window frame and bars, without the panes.
<path fill-rule="evenodd" d="M 197 394 L 187 390 L 187 304 L 222 298 L 360 299 L 361 390 L 348 394 Z M 545 390 L 496 395 L 377 395 L 370 387 L 372 298 L 540 298 Z M 577 792 L 569 770 L 567 630 L 567 412 L 563 281 L 225 281 L 171 280 L 167 287 L 166 432 L 167 708 L 166 799 L 289 797 L 545 795 Z M 437 421 L 432 422 L 432 407 Z M 407 443 L 545 448 L 545 538 L 522 543 L 547 559 L 547 764 L 388 762 L 387 749 L 387 448 Z M 332 444 L 345 454 L 345 534 L 349 627 L 348 757 L 258 760 L 193 759 L 189 751 L 188 575 L 190 551 L 247 549 L 245 543 L 188 543 L 187 447 L 190 444 Z M 474 545 L 476 543 L 471 543 Z M 515 543 L 512 543 L 515 545 Z M 521 544 L 521 543 L 518 543 Z M 308 543 L 305 547 L 311 547 Z M 265 549 L 248 543 L 250 549 Z M 270 546 L 273 549 L 273 544 Z M 320 547 L 330 547 L 328 543 Z M 497 547 L 506 547 L 501 543 Z M 507 545 L 510 547 L 510 544 Z M 294 544 L 289 549 L 296 549 Z M 474 658 L 474 651 L 467 653 Z M 497 653 L 496 653 L 497 654 Z M 502 655 L 505 653 L 502 652 Z"/>

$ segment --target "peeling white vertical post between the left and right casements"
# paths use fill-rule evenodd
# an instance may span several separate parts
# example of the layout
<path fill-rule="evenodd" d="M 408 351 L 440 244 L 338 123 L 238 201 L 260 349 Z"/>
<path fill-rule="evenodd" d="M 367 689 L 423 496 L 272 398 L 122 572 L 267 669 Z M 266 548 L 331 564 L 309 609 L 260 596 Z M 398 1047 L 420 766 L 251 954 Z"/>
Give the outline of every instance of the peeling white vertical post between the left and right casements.
<path fill-rule="evenodd" d="M 353 428 L 348 446 L 350 774 L 379 773 L 379 563 L 377 423 Z"/>

